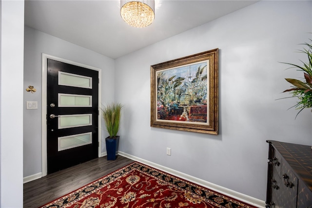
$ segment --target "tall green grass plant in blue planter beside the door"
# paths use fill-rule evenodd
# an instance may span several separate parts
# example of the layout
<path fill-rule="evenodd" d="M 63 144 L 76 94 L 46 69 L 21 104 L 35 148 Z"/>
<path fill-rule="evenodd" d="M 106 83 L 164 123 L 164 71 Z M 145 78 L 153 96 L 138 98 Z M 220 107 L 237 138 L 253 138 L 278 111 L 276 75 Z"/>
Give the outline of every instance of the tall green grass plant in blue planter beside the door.
<path fill-rule="evenodd" d="M 101 109 L 106 130 L 109 134 L 105 138 L 107 160 L 116 160 L 117 158 L 119 145 L 119 136 L 117 136 L 117 133 L 119 130 L 121 109 L 122 105 L 119 103 L 107 104 Z"/>

